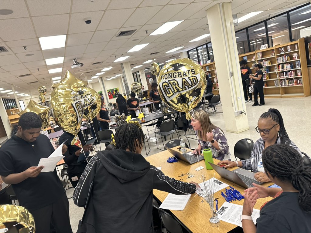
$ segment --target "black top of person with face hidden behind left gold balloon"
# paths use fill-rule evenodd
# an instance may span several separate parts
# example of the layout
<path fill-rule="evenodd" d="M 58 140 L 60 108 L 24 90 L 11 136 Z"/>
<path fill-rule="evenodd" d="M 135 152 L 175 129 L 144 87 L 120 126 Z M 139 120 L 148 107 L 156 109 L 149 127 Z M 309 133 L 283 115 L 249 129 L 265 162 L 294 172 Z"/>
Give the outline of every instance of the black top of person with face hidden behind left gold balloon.
<path fill-rule="evenodd" d="M 84 139 L 84 136 L 83 136 L 81 130 L 78 133 L 78 137 L 81 141 L 82 146 L 84 146 L 86 142 L 85 142 L 85 139 Z M 87 165 L 86 160 L 81 161 L 81 162 L 77 162 L 79 157 L 75 155 L 75 152 L 81 148 L 76 146 L 76 145 L 71 145 L 71 141 L 73 138 L 74 138 L 74 135 L 72 135 L 71 133 L 68 133 L 68 132 L 64 132 L 60 136 L 60 138 L 58 139 L 59 145 L 62 144 L 63 142 L 65 142 L 64 144 L 67 145 L 67 147 L 68 147 L 67 152 L 65 154 L 63 154 L 63 156 L 65 156 L 64 161 L 68 165 L 67 172 L 70 176 L 74 176 L 78 173 L 83 172 L 86 165 Z M 66 139 L 67 139 L 67 141 L 66 141 Z M 85 154 L 86 157 L 89 155 L 89 152 L 85 151 L 84 153 L 86 153 Z"/>

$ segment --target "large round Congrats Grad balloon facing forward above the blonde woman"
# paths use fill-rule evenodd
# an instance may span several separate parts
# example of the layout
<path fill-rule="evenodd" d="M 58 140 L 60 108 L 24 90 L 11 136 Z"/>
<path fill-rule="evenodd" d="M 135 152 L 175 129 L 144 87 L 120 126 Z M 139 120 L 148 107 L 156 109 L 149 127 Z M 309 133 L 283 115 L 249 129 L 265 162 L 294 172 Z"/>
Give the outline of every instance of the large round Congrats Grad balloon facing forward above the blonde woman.
<path fill-rule="evenodd" d="M 173 109 L 186 112 L 200 103 L 206 88 L 206 75 L 201 66 L 189 58 L 174 59 L 165 64 L 158 76 L 161 99 Z"/>

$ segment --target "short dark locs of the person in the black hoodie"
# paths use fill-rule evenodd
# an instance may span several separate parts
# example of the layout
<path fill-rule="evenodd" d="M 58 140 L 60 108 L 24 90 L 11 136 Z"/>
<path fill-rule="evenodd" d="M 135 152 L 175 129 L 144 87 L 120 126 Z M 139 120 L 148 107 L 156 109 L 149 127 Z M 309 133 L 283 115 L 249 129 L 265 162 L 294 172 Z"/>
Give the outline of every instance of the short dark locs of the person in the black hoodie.
<path fill-rule="evenodd" d="M 116 134 L 114 135 L 115 149 L 126 150 L 129 149 L 131 152 L 136 152 L 137 146 L 142 147 L 144 133 L 135 124 L 124 124 L 120 126 Z M 137 144 L 137 141 L 138 144 Z"/>

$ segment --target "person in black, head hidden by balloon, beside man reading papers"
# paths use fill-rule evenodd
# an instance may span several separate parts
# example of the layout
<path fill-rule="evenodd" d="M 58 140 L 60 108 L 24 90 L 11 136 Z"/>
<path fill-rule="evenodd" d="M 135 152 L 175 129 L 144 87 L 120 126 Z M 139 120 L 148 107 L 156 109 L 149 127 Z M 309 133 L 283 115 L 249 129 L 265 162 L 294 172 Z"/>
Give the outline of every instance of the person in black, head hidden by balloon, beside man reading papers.
<path fill-rule="evenodd" d="M 60 138 L 58 139 L 58 144 L 62 144 L 63 142 L 67 141 L 64 143 L 64 145 L 67 145 L 67 152 L 64 153 L 64 161 L 68 165 L 67 168 L 67 173 L 68 177 L 70 180 L 70 183 L 72 184 L 73 187 L 76 187 L 78 184 L 78 180 L 80 179 L 82 172 L 84 171 L 87 161 L 83 160 L 81 162 L 78 162 L 78 158 L 81 154 L 81 148 L 76 146 L 76 145 L 71 145 L 71 141 L 73 139 L 74 135 L 68 132 L 64 132 Z M 91 150 L 92 145 L 87 144 L 84 139 L 84 136 L 82 134 L 82 131 L 80 130 L 78 133 L 79 140 L 81 141 L 81 144 L 83 146 L 83 150 L 86 152 L 89 152 Z M 86 154 L 86 157 L 88 154 Z"/>

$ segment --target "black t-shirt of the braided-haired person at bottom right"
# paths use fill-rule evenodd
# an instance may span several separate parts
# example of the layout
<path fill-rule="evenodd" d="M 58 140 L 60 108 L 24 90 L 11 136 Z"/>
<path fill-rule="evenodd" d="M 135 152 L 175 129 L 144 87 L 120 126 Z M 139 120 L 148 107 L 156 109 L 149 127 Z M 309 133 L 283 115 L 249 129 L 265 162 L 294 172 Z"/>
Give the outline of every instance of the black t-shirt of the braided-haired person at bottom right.
<path fill-rule="evenodd" d="M 311 232 L 311 213 L 298 203 L 298 192 L 283 192 L 260 210 L 257 233 Z"/>

